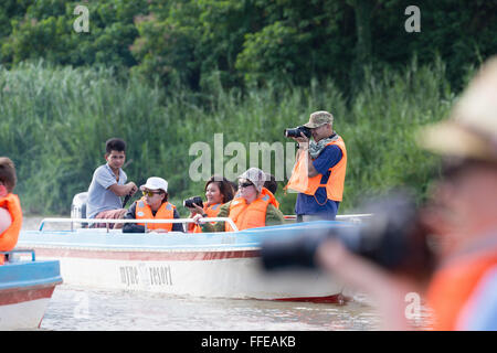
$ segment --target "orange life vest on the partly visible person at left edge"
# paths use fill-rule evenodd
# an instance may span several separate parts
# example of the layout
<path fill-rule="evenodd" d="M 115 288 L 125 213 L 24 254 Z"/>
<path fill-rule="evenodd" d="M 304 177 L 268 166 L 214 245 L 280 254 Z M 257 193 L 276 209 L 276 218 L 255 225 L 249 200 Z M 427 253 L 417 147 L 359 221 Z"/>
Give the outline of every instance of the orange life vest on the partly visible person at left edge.
<path fill-rule="evenodd" d="M 19 232 L 22 226 L 21 202 L 18 195 L 9 193 L 0 199 L 0 207 L 7 208 L 12 218 L 11 225 L 0 234 L 0 252 L 10 252 L 18 244 Z M 4 256 L 0 256 L 0 265 L 3 265 Z"/>

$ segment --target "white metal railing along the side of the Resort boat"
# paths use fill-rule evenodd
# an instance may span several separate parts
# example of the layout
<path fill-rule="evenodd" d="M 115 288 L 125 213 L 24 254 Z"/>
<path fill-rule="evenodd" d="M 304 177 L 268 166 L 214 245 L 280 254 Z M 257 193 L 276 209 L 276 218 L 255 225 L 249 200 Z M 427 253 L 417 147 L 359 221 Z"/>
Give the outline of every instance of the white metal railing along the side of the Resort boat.
<path fill-rule="evenodd" d="M 203 217 L 199 218 L 200 222 L 228 222 L 234 232 L 239 232 L 239 228 L 234 224 L 233 220 L 229 217 Z M 194 223 L 193 218 L 172 218 L 172 220 L 107 220 L 107 218 L 43 218 L 40 222 L 39 231 L 42 232 L 45 223 L 71 223 L 71 232 L 74 231 L 74 223 L 98 223 L 106 225 L 107 233 L 109 232 L 110 223 L 144 223 L 145 232 L 147 232 L 147 224 L 155 223 Z"/>

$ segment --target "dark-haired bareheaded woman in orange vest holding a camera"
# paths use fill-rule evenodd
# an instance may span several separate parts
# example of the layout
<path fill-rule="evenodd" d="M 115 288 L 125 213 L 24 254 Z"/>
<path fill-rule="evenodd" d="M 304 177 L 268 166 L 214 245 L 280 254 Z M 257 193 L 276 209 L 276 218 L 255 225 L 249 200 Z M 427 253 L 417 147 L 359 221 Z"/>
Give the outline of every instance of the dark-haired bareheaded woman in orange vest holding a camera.
<path fill-rule="evenodd" d="M 233 200 L 233 186 L 230 181 L 224 176 L 212 175 L 204 188 L 205 192 L 205 203 L 203 204 L 203 208 L 193 203 L 194 207 L 189 207 L 191 214 L 190 217 L 193 217 L 197 214 L 202 215 L 202 217 L 216 217 L 221 206 L 226 202 Z M 189 233 L 202 233 L 202 227 L 194 223 L 188 224 Z"/>

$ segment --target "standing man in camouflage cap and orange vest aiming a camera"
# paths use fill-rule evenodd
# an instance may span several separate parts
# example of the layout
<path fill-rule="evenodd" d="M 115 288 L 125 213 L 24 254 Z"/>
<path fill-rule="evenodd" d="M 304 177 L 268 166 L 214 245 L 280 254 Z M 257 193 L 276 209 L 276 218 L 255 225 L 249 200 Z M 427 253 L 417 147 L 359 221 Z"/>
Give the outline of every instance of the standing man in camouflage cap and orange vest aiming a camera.
<path fill-rule="evenodd" d="M 315 111 L 309 122 L 314 141 L 302 133 L 296 162 L 286 189 L 298 192 L 295 204 L 297 222 L 335 220 L 342 200 L 347 169 L 347 149 L 334 131 L 334 116 Z"/>

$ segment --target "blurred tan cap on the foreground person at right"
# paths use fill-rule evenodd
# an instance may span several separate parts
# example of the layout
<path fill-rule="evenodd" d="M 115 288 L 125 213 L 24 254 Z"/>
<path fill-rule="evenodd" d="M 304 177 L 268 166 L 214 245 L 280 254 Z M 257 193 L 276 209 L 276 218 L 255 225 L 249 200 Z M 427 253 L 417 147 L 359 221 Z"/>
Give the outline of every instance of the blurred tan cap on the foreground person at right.
<path fill-rule="evenodd" d="M 497 56 L 482 66 L 450 119 L 425 127 L 417 140 L 442 156 L 497 162 Z"/>

